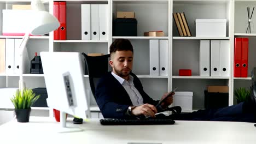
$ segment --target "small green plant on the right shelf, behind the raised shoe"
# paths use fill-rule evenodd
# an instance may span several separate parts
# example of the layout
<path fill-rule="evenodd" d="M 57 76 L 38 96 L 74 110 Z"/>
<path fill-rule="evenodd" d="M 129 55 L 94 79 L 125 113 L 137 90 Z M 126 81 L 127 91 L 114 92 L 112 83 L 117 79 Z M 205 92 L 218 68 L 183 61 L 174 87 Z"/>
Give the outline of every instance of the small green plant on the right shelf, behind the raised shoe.
<path fill-rule="evenodd" d="M 249 97 L 250 94 L 251 94 L 251 89 L 246 89 L 244 87 L 237 88 L 235 90 L 237 104 L 243 101 L 246 101 L 246 99 Z"/>

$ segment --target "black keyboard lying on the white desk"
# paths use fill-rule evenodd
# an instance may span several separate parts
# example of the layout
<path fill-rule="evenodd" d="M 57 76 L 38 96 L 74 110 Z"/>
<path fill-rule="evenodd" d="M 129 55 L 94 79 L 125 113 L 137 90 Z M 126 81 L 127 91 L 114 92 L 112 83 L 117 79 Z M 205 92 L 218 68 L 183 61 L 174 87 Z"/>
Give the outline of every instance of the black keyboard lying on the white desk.
<path fill-rule="evenodd" d="M 102 125 L 151 125 L 151 124 L 174 124 L 172 119 L 149 118 L 149 119 L 100 119 Z"/>

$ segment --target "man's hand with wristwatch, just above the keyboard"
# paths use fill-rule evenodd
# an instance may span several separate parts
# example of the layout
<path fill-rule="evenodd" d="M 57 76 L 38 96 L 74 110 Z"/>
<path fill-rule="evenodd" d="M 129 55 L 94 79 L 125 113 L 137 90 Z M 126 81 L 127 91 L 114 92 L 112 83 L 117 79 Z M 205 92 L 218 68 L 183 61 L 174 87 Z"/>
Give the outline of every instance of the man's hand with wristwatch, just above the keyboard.
<path fill-rule="evenodd" d="M 132 109 L 131 112 L 132 112 L 132 115 L 135 115 L 135 116 L 144 115 L 144 116 L 155 117 L 155 113 L 158 113 L 158 110 L 156 110 L 154 105 L 143 104 L 140 106 L 136 106 L 134 109 Z"/>

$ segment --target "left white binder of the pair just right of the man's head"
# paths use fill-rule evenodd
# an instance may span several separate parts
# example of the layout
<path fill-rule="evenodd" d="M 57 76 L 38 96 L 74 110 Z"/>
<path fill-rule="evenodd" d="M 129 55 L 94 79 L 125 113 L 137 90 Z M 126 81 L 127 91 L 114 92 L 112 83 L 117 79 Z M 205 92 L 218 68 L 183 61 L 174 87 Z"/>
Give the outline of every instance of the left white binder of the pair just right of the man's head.
<path fill-rule="evenodd" d="M 159 75 L 159 40 L 149 40 L 149 73 Z"/>

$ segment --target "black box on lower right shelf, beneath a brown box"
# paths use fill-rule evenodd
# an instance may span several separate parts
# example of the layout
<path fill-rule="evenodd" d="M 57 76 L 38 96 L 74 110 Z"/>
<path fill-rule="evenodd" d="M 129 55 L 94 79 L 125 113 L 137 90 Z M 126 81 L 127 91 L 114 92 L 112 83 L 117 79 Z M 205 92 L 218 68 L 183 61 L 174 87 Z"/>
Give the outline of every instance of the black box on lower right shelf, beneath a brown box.
<path fill-rule="evenodd" d="M 218 109 L 226 106 L 229 106 L 229 93 L 205 90 L 205 109 Z"/>

